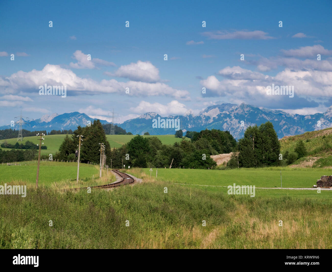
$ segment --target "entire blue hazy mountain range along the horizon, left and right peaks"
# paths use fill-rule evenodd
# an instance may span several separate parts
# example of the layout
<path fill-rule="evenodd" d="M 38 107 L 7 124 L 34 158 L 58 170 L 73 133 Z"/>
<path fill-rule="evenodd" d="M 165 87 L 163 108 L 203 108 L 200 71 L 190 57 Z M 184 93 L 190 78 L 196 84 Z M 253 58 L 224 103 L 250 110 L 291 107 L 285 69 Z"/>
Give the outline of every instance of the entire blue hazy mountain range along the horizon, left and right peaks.
<path fill-rule="evenodd" d="M 185 131 L 201 131 L 205 129 L 220 129 L 229 131 L 234 138 L 243 137 L 244 131 L 249 126 L 257 126 L 270 121 L 279 138 L 284 136 L 303 134 L 307 131 L 321 130 L 332 127 L 332 106 L 325 113 L 313 115 L 290 114 L 279 110 L 269 110 L 263 107 L 255 107 L 242 103 L 221 104 L 209 106 L 198 115 L 188 110 L 185 115 L 169 115 L 163 117 L 154 112 L 140 115 L 138 118 L 116 124 L 132 134 L 142 135 L 148 132 L 150 135 L 175 134 L 174 128 L 153 128 L 153 119 L 179 119 L 180 129 Z M 40 119 L 25 121 L 23 128 L 30 131 L 35 130 L 75 130 L 77 126 L 86 126 L 95 119 L 79 112 L 64 113 L 61 115 L 44 115 Z M 100 120 L 102 124 L 109 124 L 106 120 Z M 18 127 L 18 126 L 16 126 Z M 11 128 L 10 124 L 0 129 Z M 17 129 L 17 128 L 16 128 Z M 185 133 L 184 133 L 185 135 Z"/>

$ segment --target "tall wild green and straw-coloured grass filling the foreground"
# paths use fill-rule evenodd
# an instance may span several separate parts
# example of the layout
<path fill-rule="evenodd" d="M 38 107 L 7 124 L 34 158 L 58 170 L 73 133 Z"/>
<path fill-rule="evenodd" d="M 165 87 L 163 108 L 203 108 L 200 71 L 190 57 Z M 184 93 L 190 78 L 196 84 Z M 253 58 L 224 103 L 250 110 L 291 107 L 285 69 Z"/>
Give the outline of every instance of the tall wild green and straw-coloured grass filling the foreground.
<path fill-rule="evenodd" d="M 332 246 L 331 204 L 287 196 L 229 197 L 173 182 L 91 193 L 30 188 L 25 198 L 2 195 L 0 210 L 0 248 Z"/>

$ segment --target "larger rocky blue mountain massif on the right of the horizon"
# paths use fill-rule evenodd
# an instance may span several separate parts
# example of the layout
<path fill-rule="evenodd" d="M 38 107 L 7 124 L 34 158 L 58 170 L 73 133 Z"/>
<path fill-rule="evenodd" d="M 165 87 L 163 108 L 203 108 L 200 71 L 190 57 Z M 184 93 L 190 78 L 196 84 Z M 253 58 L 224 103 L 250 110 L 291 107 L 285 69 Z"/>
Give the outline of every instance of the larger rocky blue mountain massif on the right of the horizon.
<path fill-rule="evenodd" d="M 182 130 L 199 132 L 205 129 L 220 129 L 229 131 L 236 139 L 243 137 L 247 127 L 254 126 L 255 124 L 259 126 L 262 123 L 270 121 L 278 137 L 282 138 L 284 136 L 332 127 L 332 106 L 325 113 L 298 115 L 262 107 L 258 108 L 244 103 L 241 105 L 222 104 L 209 106 L 196 116 L 191 111 L 188 111 L 184 116 L 168 117 L 162 117 L 156 113 L 149 112 L 138 118 L 127 120 L 120 126 L 133 134 L 143 134 L 144 132 L 148 132 L 150 135 L 175 134 L 174 129 L 152 128 L 152 120 L 158 117 L 160 119 L 180 119 L 180 129 Z M 241 121 L 243 121 L 243 127 L 241 127 Z M 320 121 L 320 127 L 318 121 Z"/>

